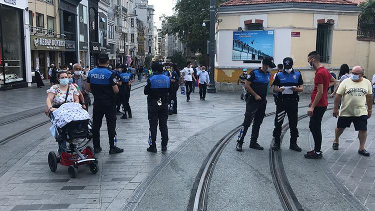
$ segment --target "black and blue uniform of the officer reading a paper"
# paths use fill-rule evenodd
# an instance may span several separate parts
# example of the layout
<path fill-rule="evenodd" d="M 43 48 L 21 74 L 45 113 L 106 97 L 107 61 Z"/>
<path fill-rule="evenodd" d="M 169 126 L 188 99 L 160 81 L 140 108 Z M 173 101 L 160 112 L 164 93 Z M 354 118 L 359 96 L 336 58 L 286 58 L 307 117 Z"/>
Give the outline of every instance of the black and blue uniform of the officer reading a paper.
<path fill-rule="evenodd" d="M 273 80 L 273 85 L 281 86 L 296 86 L 303 84 L 302 75 L 299 71 L 291 70 L 290 73 L 283 70 L 278 72 Z M 280 135 L 281 126 L 284 121 L 285 115 L 288 116 L 289 128 L 290 128 L 290 147 L 296 146 L 298 129 L 297 129 L 297 118 L 298 118 L 298 101 L 299 96 L 296 91 L 291 94 L 282 94 L 282 92 L 277 93 L 276 98 L 276 115 L 274 118 L 274 129 L 273 137 L 276 146 L 280 146 Z M 294 147 L 299 148 L 299 147 Z M 298 151 L 300 148 L 298 149 Z"/>

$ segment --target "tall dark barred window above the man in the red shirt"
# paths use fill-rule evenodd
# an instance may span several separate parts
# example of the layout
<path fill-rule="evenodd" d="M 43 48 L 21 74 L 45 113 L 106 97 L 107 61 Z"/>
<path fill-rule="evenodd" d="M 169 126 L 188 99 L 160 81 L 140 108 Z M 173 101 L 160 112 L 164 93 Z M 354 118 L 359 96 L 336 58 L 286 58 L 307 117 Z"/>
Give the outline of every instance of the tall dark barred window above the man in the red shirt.
<path fill-rule="evenodd" d="M 320 62 L 329 63 L 332 48 L 333 24 L 318 23 L 316 30 L 316 51 L 320 53 Z"/>

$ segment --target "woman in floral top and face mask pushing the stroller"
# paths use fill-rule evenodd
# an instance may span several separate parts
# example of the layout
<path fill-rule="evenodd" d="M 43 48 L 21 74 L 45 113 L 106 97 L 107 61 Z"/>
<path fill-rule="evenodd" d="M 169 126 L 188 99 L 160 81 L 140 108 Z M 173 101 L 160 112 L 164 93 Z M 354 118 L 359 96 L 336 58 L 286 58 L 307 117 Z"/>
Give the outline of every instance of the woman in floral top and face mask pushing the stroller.
<path fill-rule="evenodd" d="M 47 90 L 47 110 L 46 114 L 54 111 L 61 104 L 65 102 L 77 102 L 79 103 L 78 91 L 74 85 L 69 84 L 69 78 L 66 71 L 60 71 L 57 73 L 56 85 L 52 85 Z"/>

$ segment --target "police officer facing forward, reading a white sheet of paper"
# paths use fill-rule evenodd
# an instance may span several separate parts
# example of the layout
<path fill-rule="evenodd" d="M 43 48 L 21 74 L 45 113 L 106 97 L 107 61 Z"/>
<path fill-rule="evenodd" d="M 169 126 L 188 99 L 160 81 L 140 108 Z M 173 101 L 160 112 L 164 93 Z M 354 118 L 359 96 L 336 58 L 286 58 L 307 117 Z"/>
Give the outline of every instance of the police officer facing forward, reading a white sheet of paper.
<path fill-rule="evenodd" d="M 299 71 L 293 69 L 293 59 L 286 57 L 283 60 L 284 69 L 276 74 L 273 80 L 273 92 L 277 93 L 276 115 L 274 118 L 273 150 L 280 148 L 281 125 L 285 115 L 288 116 L 290 128 L 289 149 L 301 151 L 297 145 L 298 129 L 298 92 L 303 91 L 302 75 Z"/>

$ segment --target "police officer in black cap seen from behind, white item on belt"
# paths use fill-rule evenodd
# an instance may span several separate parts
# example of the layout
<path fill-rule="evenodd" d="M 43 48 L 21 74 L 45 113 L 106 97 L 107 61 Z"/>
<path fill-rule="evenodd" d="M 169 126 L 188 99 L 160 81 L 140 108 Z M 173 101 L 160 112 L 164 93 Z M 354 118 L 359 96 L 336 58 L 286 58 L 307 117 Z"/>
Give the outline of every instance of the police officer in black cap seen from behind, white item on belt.
<path fill-rule="evenodd" d="M 166 151 L 168 143 L 168 93 L 171 93 L 171 82 L 168 76 L 162 74 L 163 66 L 160 62 L 152 63 L 153 76 L 147 79 L 144 94 L 147 96 L 147 111 L 149 121 L 149 147 L 147 151 L 156 152 L 156 129 L 159 122 L 161 133 L 161 151 Z"/>

